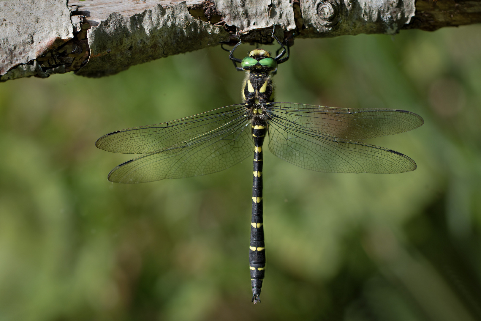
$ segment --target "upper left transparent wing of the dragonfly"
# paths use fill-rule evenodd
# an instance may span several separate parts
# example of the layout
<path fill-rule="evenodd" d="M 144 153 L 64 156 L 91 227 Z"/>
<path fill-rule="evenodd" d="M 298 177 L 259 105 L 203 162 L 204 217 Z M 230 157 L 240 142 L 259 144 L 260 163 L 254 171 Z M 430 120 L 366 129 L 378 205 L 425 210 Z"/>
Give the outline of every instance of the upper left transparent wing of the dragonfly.
<path fill-rule="evenodd" d="M 113 153 L 157 153 L 185 145 L 186 141 L 195 140 L 234 119 L 242 118 L 245 112 L 245 106 L 237 104 L 168 123 L 118 130 L 99 138 L 95 146 Z"/>

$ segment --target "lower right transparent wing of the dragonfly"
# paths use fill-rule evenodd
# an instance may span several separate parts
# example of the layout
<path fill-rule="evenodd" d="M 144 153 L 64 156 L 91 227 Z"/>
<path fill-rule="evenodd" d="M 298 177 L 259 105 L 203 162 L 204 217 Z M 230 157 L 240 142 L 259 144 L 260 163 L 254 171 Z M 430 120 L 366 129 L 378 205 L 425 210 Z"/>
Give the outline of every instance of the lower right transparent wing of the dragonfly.
<path fill-rule="evenodd" d="M 402 173 L 416 169 L 404 154 L 379 146 L 320 134 L 273 115 L 269 149 L 279 158 L 318 172 Z"/>

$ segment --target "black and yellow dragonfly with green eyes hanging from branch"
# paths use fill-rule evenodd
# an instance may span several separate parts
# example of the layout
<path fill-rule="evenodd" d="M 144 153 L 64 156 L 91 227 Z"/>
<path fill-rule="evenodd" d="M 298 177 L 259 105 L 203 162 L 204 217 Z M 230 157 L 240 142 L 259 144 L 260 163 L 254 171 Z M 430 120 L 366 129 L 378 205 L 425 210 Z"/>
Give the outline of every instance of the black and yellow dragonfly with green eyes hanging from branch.
<path fill-rule="evenodd" d="M 113 153 L 141 154 L 112 169 L 108 180 L 140 183 L 201 176 L 227 169 L 253 154 L 252 219 L 249 246 L 252 302 L 260 302 L 266 267 L 263 227 L 263 148 L 299 167 L 335 173 L 402 173 L 416 163 L 392 149 L 363 140 L 423 125 L 415 113 L 399 109 L 351 109 L 274 101 L 272 76 L 289 59 L 290 47 L 275 56 L 254 49 L 236 70 L 246 73 L 242 103 L 174 121 L 108 133 L 96 142 Z M 287 49 L 286 49 L 287 47 Z M 224 49 L 224 48 L 223 48 Z M 279 53 L 280 51 L 280 53 Z M 241 66 L 238 66 L 240 64 Z"/>

